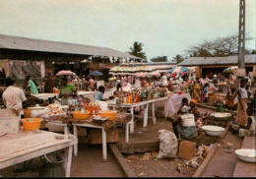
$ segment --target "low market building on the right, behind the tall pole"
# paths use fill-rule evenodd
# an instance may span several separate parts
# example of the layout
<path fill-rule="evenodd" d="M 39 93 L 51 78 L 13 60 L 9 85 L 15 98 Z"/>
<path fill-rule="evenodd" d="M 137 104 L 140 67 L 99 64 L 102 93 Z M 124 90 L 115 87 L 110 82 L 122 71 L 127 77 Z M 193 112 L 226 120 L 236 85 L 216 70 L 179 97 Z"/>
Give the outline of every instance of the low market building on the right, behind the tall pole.
<path fill-rule="evenodd" d="M 198 67 L 197 77 L 205 77 L 205 75 L 213 73 L 221 73 L 227 67 L 237 66 L 238 56 L 226 56 L 226 57 L 191 57 L 185 59 L 179 63 L 179 66 L 185 67 Z M 256 55 L 245 55 L 244 56 L 244 67 L 246 72 L 256 71 Z"/>

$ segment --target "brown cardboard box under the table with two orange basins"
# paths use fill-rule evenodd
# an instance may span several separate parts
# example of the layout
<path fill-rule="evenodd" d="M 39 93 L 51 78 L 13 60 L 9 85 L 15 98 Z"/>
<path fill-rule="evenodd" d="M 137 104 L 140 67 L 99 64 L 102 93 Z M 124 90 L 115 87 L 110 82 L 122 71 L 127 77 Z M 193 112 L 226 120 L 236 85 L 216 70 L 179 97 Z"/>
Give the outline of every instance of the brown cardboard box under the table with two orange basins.
<path fill-rule="evenodd" d="M 118 143 L 119 135 L 118 129 L 108 129 L 106 131 L 106 143 Z M 102 144 L 102 130 L 101 129 L 90 129 L 89 131 L 89 143 L 92 145 Z"/>

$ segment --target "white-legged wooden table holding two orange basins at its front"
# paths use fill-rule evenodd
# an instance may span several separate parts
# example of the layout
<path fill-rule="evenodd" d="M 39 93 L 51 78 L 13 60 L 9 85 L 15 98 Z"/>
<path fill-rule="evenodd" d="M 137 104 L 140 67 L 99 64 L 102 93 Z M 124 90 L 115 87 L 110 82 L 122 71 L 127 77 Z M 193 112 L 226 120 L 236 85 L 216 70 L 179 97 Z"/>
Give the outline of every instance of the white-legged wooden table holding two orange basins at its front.
<path fill-rule="evenodd" d="M 105 131 L 109 128 L 111 128 L 113 125 L 116 124 L 116 122 L 121 122 L 126 124 L 125 129 L 125 142 L 129 142 L 129 121 L 131 121 L 132 117 L 130 114 L 126 113 L 117 113 L 114 120 L 107 120 L 102 124 L 98 124 L 94 122 L 93 117 L 89 116 L 88 119 L 81 120 L 80 122 L 72 122 L 73 125 L 73 132 L 74 136 L 78 136 L 78 126 L 81 127 L 88 127 L 88 128 L 98 128 L 102 131 L 102 154 L 103 154 L 103 161 L 106 161 L 107 155 L 106 155 L 106 134 Z M 75 156 L 78 155 L 78 146 L 74 146 L 74 154 Z"/>

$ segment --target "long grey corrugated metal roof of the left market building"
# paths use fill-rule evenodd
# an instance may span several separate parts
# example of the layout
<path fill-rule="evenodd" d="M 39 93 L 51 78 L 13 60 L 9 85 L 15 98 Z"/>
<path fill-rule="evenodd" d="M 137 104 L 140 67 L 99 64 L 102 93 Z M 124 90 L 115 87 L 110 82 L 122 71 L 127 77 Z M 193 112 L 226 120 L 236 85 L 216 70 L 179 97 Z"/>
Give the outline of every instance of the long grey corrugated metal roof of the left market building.
<path fill-rule="evenodd" d="M 0 34 L 0 48 L 121 58 L 139 57 L 111 48 Z"/>

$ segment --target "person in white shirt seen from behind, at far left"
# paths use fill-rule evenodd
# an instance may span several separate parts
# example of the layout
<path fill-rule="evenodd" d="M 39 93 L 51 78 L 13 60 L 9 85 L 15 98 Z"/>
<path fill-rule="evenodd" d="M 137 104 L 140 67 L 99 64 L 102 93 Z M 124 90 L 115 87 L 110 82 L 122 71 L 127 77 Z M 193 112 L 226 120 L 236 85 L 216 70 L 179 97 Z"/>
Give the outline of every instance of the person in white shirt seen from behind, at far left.
<path fill-rule="evenodd" d="M 6 79 L 6 86 L 8 87 L 3 92 L 3 100 L 7 109 L 15 109 L 17 116 L 23 109 L 23 101 L 27 98 L 22 89 L 16 87 L 15 81 L 11 78 Z"/>

